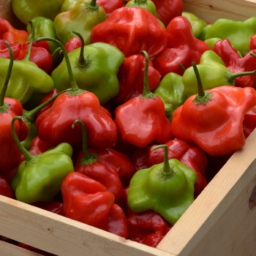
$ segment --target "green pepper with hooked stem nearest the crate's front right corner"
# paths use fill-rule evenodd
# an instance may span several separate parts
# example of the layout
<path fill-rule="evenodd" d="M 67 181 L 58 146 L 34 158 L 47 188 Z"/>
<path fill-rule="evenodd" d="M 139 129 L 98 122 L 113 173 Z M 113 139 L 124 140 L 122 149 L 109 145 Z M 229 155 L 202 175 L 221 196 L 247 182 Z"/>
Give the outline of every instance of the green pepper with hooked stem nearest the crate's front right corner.
<path fill-rule="evenodd" d="M 138 170 L 129 184 L 128 206 L 135 212 L 154 210 L 174 225 L 194 201 L 197 175 L 177 159 L 168 159 L 167 145 L 163 163 Z"/>

